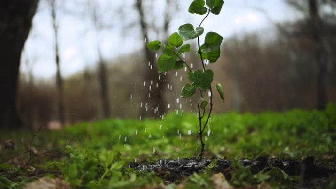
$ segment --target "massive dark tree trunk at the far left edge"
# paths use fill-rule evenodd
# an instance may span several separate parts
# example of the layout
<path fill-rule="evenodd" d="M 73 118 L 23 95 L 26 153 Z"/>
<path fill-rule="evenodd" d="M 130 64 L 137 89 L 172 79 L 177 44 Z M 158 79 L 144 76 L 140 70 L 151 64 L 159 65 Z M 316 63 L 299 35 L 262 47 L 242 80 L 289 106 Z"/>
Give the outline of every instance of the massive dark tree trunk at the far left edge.
<path fill-rule="evenodd" d="M 16 95 L 21 51 L 28 37 L 38 0 L 0 1 L 0 129 L 21 126 Z"/>

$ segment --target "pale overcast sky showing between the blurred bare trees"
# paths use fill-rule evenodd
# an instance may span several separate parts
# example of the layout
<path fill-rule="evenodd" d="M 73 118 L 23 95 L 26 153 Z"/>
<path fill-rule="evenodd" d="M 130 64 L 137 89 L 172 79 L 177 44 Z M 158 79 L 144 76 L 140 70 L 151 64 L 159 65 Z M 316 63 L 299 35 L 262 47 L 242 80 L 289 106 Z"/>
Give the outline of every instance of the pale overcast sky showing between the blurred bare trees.
<path fill-rule="evenodd" d="M 138 12 L 134 10 L 135 0 L 91 0 L 98 3 L 100 15 L 110 29 L 98 32 L 98 40 L 89 11 L 87 0 L 64 1 L 58 13 L 59 45 L 62 74 L 70 76 L 85 67 L 96 65 L 97 41 L 103 57 L 113 60 L 129 52 L 143 48 L 144 39 L 137 25 Z M 149 0 L 143 0 L 148 3 Z M 151 0 L 154 1 L 154 0 Z M 169 33 L 177 31 L 185 23 L 198 25 L 204 16 L 190 14 L 188 7 L 192 0 L 177 0 L 176 13 L 173 16 Z M 155 0 L 154 16 L 148 16 L 150 22 L 162 23 L 165 0 Z M 122 8 L 120 8 L 122 7 Z M 225 0 L 220 15 L 210 14 L 202 26 L 205 33 L 215 31 L 225 38 L 235 33 L 242 34 L 255 30 L 271 28 L 272 25 L 263 13 L 255 9 L 261 8 L 272 20 L 282 22 L 291 20 L 294 15 L 285 0 Z M 150 10 L 147 10 L 150 11 Z M 125 29 L 123 25 L 129 25 Z M 148 40 L 157 36 L 150 35 Z M 267 37 L 267 36 L 265 36 Z M 33 27 L 25 44 L 22 56 L 21 71 L 33 71 L 35 77 L 52 78 L 56 73 L 54 57 L 54 37 L 50 9 L 45 0 L 41 0 L 37 14 L 33 19 Z M 27 64 L 28 62 L 28 64 Z M 28 65 L 28 66 L 27 66 Z"/>

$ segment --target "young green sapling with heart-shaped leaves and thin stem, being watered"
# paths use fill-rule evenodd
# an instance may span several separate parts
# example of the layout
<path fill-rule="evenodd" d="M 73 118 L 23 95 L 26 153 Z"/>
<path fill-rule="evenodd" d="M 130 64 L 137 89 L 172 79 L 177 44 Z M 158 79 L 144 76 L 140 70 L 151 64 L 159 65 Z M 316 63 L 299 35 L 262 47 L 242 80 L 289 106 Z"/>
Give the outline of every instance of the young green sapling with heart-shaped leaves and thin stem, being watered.
<path fill-rule="evenodd" d="M 214 72 L 211 69 L 207 69 L 206 66 L 208 62 L 214 63 L 221 55 L 221 45 L 223 37 L 216 32 L 208 32 L 205 36 L 204 44 L 200 44 L 199 37 L 203 34 L 204 28 L 201 27 L 203 21 L 209 16 L 210 13 L 218 15 L 221 12 L 222 6 L 224 4 L 223 0 L 194 0 L 189 6 L 189 12 L 192 14 L 204 15 L 204 19 L 199 23 L 198 27 L 194 29 L 194 26 L 190 23 L 181 25 L 178 28 L 178 33 L 175 32 L 171 34 L 168 38 L 168 44 L 163 44 L 159 40 L 151 41 L 147 44 L 147 47 L 151 50 L 158 51 L 159 49 L 163 50 L 157 59 L 158 71 L 168 72 L 170 70 L 182 69 L 186 66 L 189 70 L 188 79 L 191 83 L 187 83 L 183 86 L 181 90 L 182 97 L 188 98 L 192 97 L 196 91 L 199 91 L 201 96 L 200 102 L 197 103 L 198 108 L 198 133 L 200 141 L 200 153 L 198 160 L 202 160 L 204 154 L 205 143 L 203 141 L 203 133 L 206 129 L 206 126 L 209 123 L 210 116 L 212 113 L 212 82 L 214 78 Z M 207 7 L 206 7 L 206 6 Z M 190 44 L 184 44 L 183 42 L 196 39 L 198 40 L 198 51 L 192 50 Z M 192 70 L 192 67 L 181 58 L 181 55 L 186 52 L 197 52 L 199 56 L 202 70 Z M 206 60 L 206 61 L 205 61 Z M 223 97 L 223 88 L 221 83 L 216 83 L 216 90 L 220 94 L 222 100 Z M 205 99 L 205 96 L 209 94 L 210 108 L 208 114 L 205 114 L 206 107 L 209 104 Z M 205 118 L 205 121 L 203 121 Z"/>

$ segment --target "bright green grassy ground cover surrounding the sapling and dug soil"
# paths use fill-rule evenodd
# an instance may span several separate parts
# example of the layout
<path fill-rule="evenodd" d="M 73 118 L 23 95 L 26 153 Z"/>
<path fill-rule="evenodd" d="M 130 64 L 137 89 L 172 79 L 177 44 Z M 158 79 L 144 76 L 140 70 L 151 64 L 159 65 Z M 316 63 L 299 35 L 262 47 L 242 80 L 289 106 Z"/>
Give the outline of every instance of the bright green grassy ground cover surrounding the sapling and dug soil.
<path fill-rule="evenodd" d="M 194 114 L 170 113 L 163 120 L 84 122 L 61 131 L 40 130 L 35 137 L 28 131 L 1 131 L 0 139 L 13 139 L 16 146 L 15 150 L 4 149 L 5 142 L 0 146 L 0 189 L 21 188 L 42 176 L 65 186 L 70 183 L 72 188 L 218 189 L 216 182 L 230 187 L 288 188 L 298 178 L 280 172 L 283 177 L 274 179 L 274 171 L 252 175 L 247 167 L 237 165 L 238 159 L 308 155 L 335 159 L 336 106 L 329 105 L 325 111 L 214 115 L 205 136 L 205 156 L 233 160 L 236 167 L 229 184 L 210 168 L 175 183 L 151 171 L 127 168 L 130 162 L 196 156 L 199 141 Z"/>

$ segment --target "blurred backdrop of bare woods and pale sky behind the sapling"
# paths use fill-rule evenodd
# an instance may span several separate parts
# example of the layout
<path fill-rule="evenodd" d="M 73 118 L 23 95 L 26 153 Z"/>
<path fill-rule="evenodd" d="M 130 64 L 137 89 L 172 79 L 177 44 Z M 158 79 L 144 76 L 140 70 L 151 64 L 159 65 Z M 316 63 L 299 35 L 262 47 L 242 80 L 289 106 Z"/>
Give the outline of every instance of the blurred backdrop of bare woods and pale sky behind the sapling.
<path fill-rule="evenodd" d="M 40 0 L 21 56 L 16 106 L 23 123 L 53 127 L 196 112 L 198 96 L 179 98 L 187 72 L 159 75 L 157 54 L 145 48 L 201 20 L 184 16 L 186 1 Z M 289 18 L 274 16 L 277 3 L 283 8 L 276 14 Z M 221 58 L 211 65 L 224 88 L 224 102 L 214 98 L 215 113 L 323 109 L 336 102 L 335 0 L 226 0 L 225 11 L 238 16 L 213 18 L 216 28 L 229 31 Z M 253 29 L 243 22 L 246 14 Z M 196 54 L 185 58 L 198 65 Z"/>

